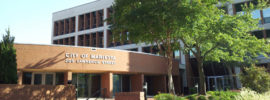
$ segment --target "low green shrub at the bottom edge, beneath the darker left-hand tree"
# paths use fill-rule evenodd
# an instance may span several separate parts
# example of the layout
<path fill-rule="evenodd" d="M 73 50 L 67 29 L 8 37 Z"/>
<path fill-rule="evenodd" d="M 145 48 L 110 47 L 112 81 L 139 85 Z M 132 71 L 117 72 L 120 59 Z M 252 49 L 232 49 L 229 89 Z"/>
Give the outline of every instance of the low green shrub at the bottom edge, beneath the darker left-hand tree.
<path fill-rule="evenodd" d="M 182 97 L 178 97 L 172 94 L 168 94 L 168 93 L 160 93 L 156 96 L 154 96 L 155 100 L 185 100 Z"/>

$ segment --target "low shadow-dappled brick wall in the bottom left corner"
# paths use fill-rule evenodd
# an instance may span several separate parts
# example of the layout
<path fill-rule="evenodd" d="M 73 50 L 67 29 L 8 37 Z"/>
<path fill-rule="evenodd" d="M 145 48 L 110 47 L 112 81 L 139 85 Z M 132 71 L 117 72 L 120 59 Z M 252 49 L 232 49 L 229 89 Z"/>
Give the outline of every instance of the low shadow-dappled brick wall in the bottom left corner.
<path fill-rule="evenodd" d="M 73 85 L 0 84 L 1 100 L 75 100 Z"/>

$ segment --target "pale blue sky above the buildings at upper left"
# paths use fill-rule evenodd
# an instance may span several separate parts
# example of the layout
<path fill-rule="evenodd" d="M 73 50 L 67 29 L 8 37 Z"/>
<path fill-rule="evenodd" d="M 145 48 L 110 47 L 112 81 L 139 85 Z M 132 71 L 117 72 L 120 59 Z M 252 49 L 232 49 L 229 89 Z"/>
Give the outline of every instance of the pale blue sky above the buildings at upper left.
<path fill-rule="evenodd" d="M 52 13 L 95 0 L 1 0 L 0 40 L 9 27 L 15 43 L 50 44 Z"/>

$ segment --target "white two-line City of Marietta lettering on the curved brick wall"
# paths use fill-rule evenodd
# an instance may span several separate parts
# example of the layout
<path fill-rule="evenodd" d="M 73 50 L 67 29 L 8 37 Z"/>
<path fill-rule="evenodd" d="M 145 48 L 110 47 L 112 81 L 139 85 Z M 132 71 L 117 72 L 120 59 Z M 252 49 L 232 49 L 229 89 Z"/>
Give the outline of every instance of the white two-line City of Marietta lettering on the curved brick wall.
<path fill-rule="evenodd" d="M 65 57 L 66 57 L 65 63 L 114 65 L 115 60 L 116 60 L 115 56 L 100 55 L 100 54 L 80 54 L 79 55 L 77 53 L 66 53 Z"/>

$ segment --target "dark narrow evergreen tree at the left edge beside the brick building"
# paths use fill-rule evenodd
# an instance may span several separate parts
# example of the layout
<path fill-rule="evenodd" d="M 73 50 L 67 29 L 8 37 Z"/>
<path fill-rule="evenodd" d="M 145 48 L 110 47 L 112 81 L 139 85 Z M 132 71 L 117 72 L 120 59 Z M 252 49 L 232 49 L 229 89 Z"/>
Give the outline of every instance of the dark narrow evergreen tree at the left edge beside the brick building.
<path fill-rule="evenodd" d="M 9 29 L 0 42 L 0 84 L 17 83 L 16 50 L 13 47 L 14 37 L 10 36 Z"/>

